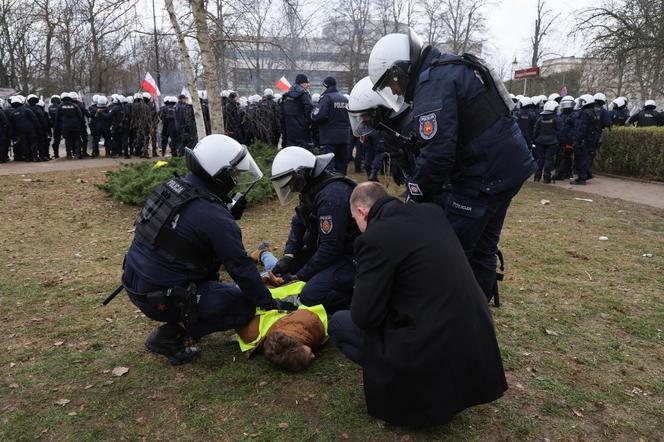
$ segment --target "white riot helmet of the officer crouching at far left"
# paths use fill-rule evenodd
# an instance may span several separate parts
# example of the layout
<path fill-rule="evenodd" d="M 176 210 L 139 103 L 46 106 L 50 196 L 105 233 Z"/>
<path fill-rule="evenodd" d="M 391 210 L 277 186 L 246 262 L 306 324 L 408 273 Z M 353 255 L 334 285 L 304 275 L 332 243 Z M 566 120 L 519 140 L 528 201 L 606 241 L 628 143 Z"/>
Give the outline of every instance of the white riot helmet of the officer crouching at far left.
<path fill-rule="evenodd" d="M 185 160 L 187 168 L 218 196 L 263 178 L 247 146 L 226 135 L 208 135 L 193 149 L 186 147 Z"/>

